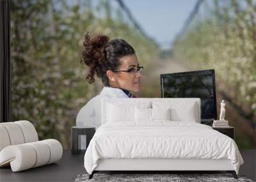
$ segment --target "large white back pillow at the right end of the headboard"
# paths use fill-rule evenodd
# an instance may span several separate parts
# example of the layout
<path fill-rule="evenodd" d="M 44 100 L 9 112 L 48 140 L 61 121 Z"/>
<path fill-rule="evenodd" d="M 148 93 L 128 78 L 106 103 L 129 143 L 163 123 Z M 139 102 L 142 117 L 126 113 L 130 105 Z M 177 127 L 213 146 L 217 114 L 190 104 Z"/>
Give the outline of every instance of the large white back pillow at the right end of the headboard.
<path fill-rule="evenodd" d="M 153 109 L 171 109 L 172 121 L 196 122 L 195 102 L 152 102 Z"/>

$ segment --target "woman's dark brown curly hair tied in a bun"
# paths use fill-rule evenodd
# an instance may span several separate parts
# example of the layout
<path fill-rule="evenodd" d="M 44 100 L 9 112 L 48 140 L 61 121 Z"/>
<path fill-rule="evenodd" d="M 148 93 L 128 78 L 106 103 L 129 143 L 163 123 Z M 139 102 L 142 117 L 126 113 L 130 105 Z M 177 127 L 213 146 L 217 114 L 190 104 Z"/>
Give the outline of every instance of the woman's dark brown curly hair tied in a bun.
<path fill-rule="evenodd" d="M 84 35 L 83 52 L 81 63 L 89 67 L 86 81 L 92 84 L 94 75 L 102 79 L 105 86 L 109 86 L 109 80 L 106 72 L 111 70 L 115 72 L 120 66 L 120 58 L 135 54 L 134 49 L 122 39 L 109 41 L 109 37 L 98 35 L 91 38 L 89 33 Z"/>

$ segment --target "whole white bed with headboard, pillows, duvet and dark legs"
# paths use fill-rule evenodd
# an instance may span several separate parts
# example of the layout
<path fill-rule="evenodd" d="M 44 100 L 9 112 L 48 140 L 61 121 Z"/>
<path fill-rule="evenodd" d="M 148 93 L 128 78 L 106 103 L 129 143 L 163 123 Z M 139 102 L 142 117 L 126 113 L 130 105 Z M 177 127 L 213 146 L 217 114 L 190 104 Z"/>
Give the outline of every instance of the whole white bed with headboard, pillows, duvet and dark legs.
<path fill-rule="evenodd" d="M 237 178 L 241 164 L 234 140 L 200 124 L 199 98 L 104 98 L 102 126 L 84 155 L 90 178 L 97 171 L 230 171 Z"/>

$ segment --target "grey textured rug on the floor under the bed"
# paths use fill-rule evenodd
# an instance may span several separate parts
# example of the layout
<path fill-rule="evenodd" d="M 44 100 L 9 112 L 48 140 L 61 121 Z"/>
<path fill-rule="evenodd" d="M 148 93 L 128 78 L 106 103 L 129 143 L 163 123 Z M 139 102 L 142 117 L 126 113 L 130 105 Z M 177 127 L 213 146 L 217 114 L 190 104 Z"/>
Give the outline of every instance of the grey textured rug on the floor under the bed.
<path fill-rule="evenodd" d="M 234 179 L 232 174 L 94 174 L 92 179 L 88 179 L 89 174 L 79 174 L 75 179 L 75 182 L 85 181 L 250 181 L 244 176 L 238 175 L 238 179 Z"/>

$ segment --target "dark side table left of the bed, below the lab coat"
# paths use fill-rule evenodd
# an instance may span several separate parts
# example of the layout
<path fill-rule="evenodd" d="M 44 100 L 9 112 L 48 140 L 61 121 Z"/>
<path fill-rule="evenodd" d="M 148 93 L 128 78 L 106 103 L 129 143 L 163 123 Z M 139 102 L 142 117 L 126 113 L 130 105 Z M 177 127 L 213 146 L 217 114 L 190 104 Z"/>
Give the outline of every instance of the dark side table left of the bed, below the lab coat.
<path fill-rule="evenodd" d="M 95 133 L 94 126 L 72 126 L 71 128 L 71 153 L 79 154 L 86 150 Z M 86 142 L 85 142 L 86 140 Z M 84 146 L 86 144 L 86 146 Z"/>

